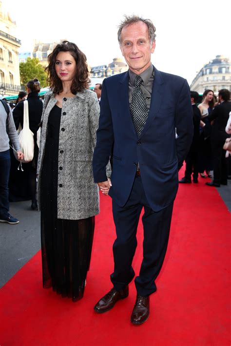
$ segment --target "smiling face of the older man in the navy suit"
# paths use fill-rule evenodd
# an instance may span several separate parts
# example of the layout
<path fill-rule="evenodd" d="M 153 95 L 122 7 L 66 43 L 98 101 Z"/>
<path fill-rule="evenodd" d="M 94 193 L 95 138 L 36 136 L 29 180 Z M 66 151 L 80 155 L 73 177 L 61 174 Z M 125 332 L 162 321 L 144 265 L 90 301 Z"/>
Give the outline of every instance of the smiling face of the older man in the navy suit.
<path fill-rule="evenodd" d="M 121 31 L 120 49 L 129 68 L 140 75 L 151 65 L 151 54 L 155 41 L 151 44 L 148 26 L 142 22 L 125 26 Z"/>

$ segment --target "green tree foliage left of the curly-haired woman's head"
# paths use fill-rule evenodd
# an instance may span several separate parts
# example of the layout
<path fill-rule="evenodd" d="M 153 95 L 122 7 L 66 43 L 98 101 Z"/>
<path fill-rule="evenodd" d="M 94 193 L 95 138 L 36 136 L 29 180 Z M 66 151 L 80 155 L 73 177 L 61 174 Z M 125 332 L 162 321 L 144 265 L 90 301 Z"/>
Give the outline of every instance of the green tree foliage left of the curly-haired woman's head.
<path fill-rule="evenodd" d="M 26 85 L 28 80 L 38 78 L 40 85 L 44 88 L 47 85 L 47 74 L 44 67 L 39 63 L 38 58 L 27 58 L 26 62 L 19 63 L 20 83 Z"/>

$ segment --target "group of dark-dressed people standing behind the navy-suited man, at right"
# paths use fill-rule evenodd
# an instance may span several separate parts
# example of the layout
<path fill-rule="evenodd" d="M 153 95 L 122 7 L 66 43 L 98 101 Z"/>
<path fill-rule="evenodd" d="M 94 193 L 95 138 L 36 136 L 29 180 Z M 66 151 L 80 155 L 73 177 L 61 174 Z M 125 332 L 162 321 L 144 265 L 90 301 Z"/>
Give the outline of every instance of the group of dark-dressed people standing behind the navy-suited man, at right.
<path fill-rule="evenodd" d="M 198 183 L 198 175 L 212 178 L 207 186 L 227 185 L 231 179 L 231 156 L 223 149 L 226 138 L 231 134 L 230 91 L 221 89 L 215 99 L 212 90 L 205 90 L 203 101 L 198 104 L 199 94 L 191 91 L 193 107 L 193 142 L 185 159 L 185 175 L 179 183 Z M 228 157 L 227 157 L 228 156 Z M 211 171 L 213 171 L 213 176 Z"/>

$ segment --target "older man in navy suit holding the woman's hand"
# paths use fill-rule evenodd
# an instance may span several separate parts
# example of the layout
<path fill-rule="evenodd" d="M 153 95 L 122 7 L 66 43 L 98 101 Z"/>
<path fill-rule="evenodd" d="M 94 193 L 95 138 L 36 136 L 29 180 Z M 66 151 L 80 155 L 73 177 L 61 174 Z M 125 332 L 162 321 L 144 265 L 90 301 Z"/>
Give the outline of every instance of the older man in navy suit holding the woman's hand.
<path fill-rule="evenodd" d="M 137 297 L 131 322 L 149 317 L 149 296 L 167 250 L 178 170 L 193 137 L 193 113 L 185 79 L 158 71 L 151 63 L 155 27 L 151 20 L 127 17 L 118 41 L 129 71 L 104 79 L 99 128 L 93 158 L 95 182 L 113 199 L 116 241 L 113 288 L 95 311 L 110 310 L 128 296 L 135 276 L 132 261 L 142 208 L 143 261 L 135 278 Z M 177 136 L 176 136 L 177 134 Z M 113 150 L 111 180 L 106 165 Z"/>

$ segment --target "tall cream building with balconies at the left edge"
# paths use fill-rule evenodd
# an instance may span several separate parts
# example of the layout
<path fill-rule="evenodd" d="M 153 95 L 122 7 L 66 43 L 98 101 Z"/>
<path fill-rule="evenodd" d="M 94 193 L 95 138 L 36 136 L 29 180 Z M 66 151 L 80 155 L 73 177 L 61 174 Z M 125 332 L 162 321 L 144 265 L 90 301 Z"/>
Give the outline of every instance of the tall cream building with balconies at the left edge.
<path fill-rule="evenodd" d="M 21 90 L 19 74 L 19 47 L 16 23 L 4 10 L 0 1 L 0 94 L 14 95 Z"/>

